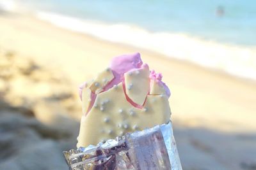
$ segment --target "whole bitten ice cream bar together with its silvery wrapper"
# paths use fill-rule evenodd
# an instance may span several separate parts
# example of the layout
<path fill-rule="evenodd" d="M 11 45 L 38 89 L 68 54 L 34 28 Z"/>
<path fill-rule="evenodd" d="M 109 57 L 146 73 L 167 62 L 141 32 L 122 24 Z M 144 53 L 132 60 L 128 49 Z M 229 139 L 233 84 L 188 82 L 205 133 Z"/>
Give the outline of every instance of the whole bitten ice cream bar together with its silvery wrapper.
<path fill-rule="evenodd" d="M 113 58 L 79 88 L 83 116 L 70 169 L 182 169 L 170 122 L 170 90 L 140 53 Z"/>

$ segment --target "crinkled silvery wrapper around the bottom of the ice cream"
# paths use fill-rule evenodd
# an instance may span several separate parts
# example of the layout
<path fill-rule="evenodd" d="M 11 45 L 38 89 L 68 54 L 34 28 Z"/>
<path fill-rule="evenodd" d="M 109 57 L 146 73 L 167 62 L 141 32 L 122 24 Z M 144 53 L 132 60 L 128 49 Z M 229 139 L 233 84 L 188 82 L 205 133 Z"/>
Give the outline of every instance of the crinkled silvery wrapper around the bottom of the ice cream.
<path fill-rule="evenodd" d="M 182 170 L 171 122 L 63 154 L 72 170 Z"/>

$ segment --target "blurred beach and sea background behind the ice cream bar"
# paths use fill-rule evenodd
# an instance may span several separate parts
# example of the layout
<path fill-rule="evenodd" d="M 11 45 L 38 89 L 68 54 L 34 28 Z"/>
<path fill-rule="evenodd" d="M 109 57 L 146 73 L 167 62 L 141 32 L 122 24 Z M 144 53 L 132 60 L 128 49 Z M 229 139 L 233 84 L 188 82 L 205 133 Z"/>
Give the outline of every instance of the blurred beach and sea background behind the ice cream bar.
<path fill-rule="evenodd" d="M 0 0 L 0 169 L 68 169 L 80 83 L 140 52 L 184 170 L 256 169 L 256 1 Z"/>

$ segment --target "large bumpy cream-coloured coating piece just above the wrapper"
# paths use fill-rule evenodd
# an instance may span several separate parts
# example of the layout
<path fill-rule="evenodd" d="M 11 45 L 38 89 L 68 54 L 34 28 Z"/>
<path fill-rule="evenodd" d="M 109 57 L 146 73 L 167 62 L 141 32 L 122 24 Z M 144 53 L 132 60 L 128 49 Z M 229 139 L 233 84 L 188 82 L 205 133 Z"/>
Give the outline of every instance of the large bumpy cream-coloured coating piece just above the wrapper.
<path fill-rule="evenodd" d="M 88 115 L 81 118 L 77 148 L 167 123 L 170 113 L 166 95 L 148 95 L 143 108 L 135 108 L 126 100 L 123 85 L 119 83 L 98 94 Z"/>

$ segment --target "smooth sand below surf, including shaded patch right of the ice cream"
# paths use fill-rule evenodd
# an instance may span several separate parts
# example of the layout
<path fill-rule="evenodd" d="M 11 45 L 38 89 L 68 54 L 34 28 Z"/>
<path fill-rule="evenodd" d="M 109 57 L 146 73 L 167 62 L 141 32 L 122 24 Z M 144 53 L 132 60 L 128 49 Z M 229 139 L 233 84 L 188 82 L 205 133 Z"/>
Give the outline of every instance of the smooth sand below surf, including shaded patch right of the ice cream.
<path fill-rule="evenodd" d="M 150 69 L 163 73 L 172 92 L 172 121 L 183 168 L 256 169 L 256 81 L 60 29 L 28 15 L 3 13 L 0 32 L 0 49 L 61 74 L 74 93 L 111 57 L 140 52 Z M 17 95 L 22 92 L 17 90 Z M 74 100 L 79 106 L 78 94 Z"/>

